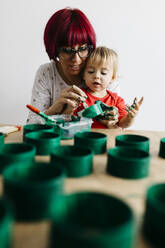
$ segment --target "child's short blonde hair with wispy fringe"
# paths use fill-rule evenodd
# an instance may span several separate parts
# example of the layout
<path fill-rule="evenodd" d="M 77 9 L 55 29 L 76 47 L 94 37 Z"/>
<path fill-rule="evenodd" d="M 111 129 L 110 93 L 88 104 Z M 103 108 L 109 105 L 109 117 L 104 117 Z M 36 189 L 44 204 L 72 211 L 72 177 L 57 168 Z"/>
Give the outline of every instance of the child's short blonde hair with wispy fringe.
<path fill-rule="evenodd" d="M 99 46 L 94 49 L 91 55 L 87 58 L 86 65 L 88 62 L 91 64 L 97 64 L 99 66 L 103 65 L 105 62 L 109 62 L 113 66 L 113 76 L 112 79 L 115 80 L 117 78 L 117 69 L 118 69 L 118 55 L 117 53 L 104 46 Z"/>

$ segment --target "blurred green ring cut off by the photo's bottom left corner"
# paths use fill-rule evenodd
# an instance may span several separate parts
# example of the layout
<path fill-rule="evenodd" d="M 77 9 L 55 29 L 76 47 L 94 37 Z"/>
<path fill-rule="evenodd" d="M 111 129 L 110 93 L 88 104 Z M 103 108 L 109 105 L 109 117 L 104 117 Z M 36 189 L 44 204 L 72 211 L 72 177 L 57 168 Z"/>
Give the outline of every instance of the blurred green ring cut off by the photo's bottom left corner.
<path fill-rule="evenodd" d="M 0 198 L 0 247 L 9 248 L 12 242 L 14 213 L 11 202 Z"/>

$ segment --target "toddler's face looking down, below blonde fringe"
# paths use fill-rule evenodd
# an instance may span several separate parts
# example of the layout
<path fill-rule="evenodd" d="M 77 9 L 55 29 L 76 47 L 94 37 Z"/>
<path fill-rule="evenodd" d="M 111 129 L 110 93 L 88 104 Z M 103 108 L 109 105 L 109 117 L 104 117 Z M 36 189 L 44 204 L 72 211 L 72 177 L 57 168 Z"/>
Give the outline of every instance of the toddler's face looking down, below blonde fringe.
<path fill-rule="evenodd" d="M 106 91 L 109 83 L 113 81 L 113 65 L 105 61 L 101 65 L 87 62 L 84 70 L 84 80 L 91 92 Z"/>

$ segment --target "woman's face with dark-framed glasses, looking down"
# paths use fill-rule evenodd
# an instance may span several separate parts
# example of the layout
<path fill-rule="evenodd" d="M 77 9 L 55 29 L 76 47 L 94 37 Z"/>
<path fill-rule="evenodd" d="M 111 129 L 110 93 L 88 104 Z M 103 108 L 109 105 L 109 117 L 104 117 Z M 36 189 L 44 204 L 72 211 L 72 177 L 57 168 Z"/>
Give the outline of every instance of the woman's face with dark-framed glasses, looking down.
<path fill-rule="evenodd" d="M 88 53 L 87 44 L 60 48 L 58 56 L 59 69 L 62 70 L 65 76 L 78 75 L 85 65 Z"/>

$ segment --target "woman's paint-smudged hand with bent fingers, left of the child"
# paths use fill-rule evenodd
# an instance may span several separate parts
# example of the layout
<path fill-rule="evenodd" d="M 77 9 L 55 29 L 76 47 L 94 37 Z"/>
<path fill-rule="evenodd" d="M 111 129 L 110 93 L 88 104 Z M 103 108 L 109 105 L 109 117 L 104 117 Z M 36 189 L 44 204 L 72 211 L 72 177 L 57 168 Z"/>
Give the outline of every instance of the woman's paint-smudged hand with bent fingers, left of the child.
<path fill-rule="evenodd" d="M 61 91 L 59 98 L 54 101 L 53 105 L 47 111 L 45 111 L 45 114 L 72 114 L 79 106 L 80 102 L 85 101 L 86 98 L 87 96 L 84 91 L 76 85 L 72 85 Z"/>

